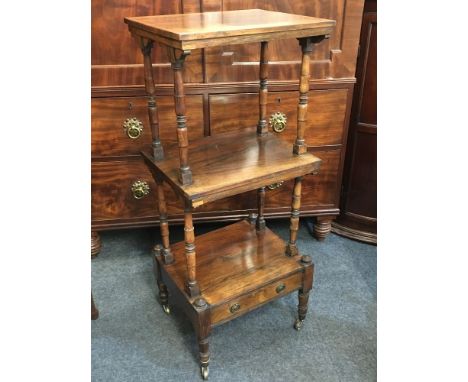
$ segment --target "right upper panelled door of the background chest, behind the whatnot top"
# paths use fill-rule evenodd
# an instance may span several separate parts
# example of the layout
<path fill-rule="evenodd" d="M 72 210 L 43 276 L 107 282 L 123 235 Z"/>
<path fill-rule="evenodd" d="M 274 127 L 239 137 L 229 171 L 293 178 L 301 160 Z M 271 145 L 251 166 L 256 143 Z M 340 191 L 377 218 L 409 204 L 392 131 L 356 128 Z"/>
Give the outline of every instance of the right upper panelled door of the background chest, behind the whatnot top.
<path fill-rule="evenodd" d="M 203 10 L 230 11 L 262 8 L 336 20 L 330 39 L 320 43 L 312 55 L 311 78 L 353 77 L 362 0 L 204 0 Z M 346 14 L 346 23 L 345 21 Z M 296 39 L 270 43 L 270 80 L 299 78 L 301 53 Z M 205 49 L 207 82 L 256 81 L 259 44 L 228 45 Z"/>

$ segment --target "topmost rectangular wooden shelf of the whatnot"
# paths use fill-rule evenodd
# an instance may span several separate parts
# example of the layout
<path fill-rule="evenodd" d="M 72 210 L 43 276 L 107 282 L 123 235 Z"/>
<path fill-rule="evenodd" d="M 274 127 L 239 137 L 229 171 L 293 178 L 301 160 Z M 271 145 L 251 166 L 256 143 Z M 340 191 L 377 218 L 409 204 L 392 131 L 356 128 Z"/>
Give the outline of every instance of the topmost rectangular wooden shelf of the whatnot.
<path fill-rule="evenodd" d="M 126 17 L 130 31 L 186 50 L 290 37 L 328 35 L 334 20 L 263 9 Z"/>

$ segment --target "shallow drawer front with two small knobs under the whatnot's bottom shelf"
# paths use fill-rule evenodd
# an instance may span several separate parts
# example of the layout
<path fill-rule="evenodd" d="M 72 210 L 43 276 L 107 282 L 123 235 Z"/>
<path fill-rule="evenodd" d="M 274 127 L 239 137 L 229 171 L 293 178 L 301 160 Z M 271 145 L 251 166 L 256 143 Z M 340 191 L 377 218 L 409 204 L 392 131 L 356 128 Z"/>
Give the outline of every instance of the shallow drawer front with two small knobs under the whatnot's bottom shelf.
<path fill-rule="evenodd" d="M 212 307 L 211 322 L 216 325 L 224 321 L 231 320 L 255 309 L 255 307 L 267 301 L 289 294 L 290 292 L 299 289 L 301 286 L 302 272 L 295 273 L 283 280 L 276 281 L 252 293 Z"/>

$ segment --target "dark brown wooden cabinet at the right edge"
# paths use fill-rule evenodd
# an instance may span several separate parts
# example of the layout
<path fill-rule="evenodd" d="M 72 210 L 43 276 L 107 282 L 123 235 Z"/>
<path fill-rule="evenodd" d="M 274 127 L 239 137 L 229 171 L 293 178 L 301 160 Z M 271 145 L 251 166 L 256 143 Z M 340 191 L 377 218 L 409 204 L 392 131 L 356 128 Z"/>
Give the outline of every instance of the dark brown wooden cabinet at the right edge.
<path fill-rule="evenodd" d="M 343 176 L 341 213 L 333 231 L 377 242 L 377 1 L 367 0 L 362 20 L 356 96 Z"/>

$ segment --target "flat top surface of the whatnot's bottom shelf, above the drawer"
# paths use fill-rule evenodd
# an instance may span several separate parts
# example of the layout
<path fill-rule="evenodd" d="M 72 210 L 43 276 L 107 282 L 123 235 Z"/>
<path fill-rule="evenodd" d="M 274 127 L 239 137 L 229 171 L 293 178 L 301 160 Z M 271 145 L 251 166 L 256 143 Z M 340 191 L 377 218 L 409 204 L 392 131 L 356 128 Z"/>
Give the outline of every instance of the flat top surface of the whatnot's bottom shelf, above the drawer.
<path fill-rule="evenodd" d="M 268 228 L 257 233 L 245 220 L 196 237 L 197 281 L 210 305 L 252 292 L 276 279 L 302 272 L 299 257 L 284 255 L 286 243 Z M 165 271 L 185 288 L 185 244 L 172 245 L 174 263 Z"/>

